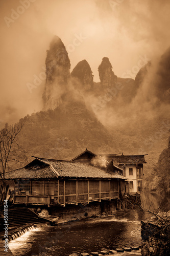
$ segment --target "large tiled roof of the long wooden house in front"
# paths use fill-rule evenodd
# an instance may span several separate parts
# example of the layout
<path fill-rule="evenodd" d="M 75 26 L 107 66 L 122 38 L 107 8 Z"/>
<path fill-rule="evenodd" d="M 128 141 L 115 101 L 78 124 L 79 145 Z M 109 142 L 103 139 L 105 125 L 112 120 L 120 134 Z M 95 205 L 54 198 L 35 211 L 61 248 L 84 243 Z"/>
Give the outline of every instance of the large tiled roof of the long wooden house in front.
<path fill-rule="evenodd" d="M 37 161 L 34 164 L 34 161 Z M 46 178 L 118 178 L 126 179 L 118 174 L 110 174 L 90 164 L 79 162 L 36 158 L 23 168 L 6 173 L 6 179 L 46 179 Z"/>

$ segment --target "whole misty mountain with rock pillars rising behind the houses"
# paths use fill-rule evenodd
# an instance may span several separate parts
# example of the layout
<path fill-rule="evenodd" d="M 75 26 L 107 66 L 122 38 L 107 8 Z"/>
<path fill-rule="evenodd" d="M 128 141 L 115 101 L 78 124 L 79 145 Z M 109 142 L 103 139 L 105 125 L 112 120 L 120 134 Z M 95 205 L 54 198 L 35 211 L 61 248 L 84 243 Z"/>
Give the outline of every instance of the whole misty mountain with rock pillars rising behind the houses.
<path fill-rule="evenodd" d="M 85 148 L 96 154 L 149 154 L 151 178 L 167 143 L 169 124 L 169 50 L 143 66 L 135 80 L 119 78 L 108 57 L 93 81 L 87 60 L 70 74 L 70 60 L 59 37 L 47 50 L 43 111 L 23 118 L 23 148 L 31 155 L 71 159 Z"/>

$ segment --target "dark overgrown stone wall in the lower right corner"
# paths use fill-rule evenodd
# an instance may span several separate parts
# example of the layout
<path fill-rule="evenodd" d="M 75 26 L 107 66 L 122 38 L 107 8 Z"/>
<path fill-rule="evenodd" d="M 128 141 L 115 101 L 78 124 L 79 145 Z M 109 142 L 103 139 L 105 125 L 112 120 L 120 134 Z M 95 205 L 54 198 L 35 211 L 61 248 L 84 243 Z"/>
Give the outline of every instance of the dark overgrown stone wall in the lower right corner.
<path fill-rule="evenodd" d="M 141 254 L 143 256 L 170 255 L 170 228 L 141 221 Z"/>

